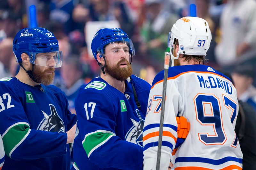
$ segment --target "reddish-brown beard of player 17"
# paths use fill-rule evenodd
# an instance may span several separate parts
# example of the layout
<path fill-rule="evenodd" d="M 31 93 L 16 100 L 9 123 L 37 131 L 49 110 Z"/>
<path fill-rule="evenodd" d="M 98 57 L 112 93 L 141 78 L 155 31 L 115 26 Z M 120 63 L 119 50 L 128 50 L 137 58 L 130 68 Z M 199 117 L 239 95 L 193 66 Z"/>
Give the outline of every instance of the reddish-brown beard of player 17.
<path fill-rule="evenodd" d="M 121 67 L 121 65 L 126 65 L 126 67 Z M 124 81 L 125 79 L 127 79 L 132 75 L 132 66 L 125 58 L 120 60 L 117 64 L 113 64 L 113 65 L 111 65 L 106 60 L 105 71 L 112 78 L 115 78 L 120 81 Z"/>

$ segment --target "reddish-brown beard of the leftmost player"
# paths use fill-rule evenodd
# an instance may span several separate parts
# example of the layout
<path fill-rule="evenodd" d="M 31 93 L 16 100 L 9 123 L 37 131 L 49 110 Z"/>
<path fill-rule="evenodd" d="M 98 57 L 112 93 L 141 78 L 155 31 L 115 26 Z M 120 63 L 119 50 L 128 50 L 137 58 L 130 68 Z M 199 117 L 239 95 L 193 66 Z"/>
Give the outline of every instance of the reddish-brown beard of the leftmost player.
<path fill-rule="evenodd" d="M 31 69 L 32 70 L 32 66 Z M 32 71 L 34 81 L 36 83 L 42 83 L 44 85 L 50 85 L 53 82 L 55 76 L 55 68 L 52 67 L 43 67 L 39 65 L 34 65 L 34 69 Z"/>

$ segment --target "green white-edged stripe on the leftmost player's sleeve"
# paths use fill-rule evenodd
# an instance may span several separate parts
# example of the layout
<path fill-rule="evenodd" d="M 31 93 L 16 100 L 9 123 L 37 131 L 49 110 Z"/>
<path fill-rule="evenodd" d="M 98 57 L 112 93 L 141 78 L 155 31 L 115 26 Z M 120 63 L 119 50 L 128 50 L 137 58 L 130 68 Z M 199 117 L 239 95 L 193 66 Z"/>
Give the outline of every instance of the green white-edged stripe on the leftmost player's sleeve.
<path fill-rule="evenodd" d="M 9 129 L 9 128 L 8 128 Z M 30 132 L 28 124 L 12 125 L 3 135 L 5 154 L 11 158 L 12 152 L 26 139 Z"/>

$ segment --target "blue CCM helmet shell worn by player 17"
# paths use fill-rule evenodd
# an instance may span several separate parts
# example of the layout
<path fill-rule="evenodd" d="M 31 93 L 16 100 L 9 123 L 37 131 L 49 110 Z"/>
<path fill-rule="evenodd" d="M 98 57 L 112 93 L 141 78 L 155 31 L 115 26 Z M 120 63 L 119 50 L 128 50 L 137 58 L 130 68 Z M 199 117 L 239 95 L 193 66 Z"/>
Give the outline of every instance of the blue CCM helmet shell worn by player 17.
<path fill-rule="evenodd" d="M 92 54 L 97 60 L 97 53 L 104 54 L 104 47 L 111 42 L 122 42 L 129 48 L 129 54 L 134 56 L 135 50 L 132 44 L 132 40 L 128 35 L 120 28 L 102 28 L 100 29 L 92 39 Z M 102 55 L 100 55 L 102 57 Z"/>

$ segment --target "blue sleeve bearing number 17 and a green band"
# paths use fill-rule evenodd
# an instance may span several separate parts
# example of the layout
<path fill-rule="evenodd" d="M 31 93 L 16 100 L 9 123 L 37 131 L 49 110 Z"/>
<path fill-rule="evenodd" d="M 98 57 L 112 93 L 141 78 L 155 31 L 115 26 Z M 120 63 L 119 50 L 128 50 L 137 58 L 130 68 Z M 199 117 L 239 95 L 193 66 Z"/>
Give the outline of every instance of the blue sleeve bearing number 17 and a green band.
<path fill-rule="evenodd" d="M 79 134 L 84 138 L 83 148 L 95 165 L 130 170 L 142 168 L 143 148 L 116 136 L 116 117 L 120 110 L 114 101 L 95 91 L 86 92 L 78 94 L 75 107 Z"/>

